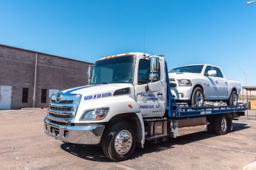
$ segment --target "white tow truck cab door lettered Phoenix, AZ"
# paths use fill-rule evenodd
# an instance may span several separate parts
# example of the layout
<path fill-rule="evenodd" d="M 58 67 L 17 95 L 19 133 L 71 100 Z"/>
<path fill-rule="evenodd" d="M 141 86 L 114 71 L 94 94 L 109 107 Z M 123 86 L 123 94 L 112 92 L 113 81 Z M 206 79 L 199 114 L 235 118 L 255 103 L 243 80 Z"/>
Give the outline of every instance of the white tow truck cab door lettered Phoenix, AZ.
<path fill-rule="evenodd" d="M 166 82 L 164 81 L 163 60 L 159 59 L 158 80 L 151 82 L 150 59 L 138 57 L 136 68 L 135 94 L 136 101 L 143 117 L 163 116 L 165 113 Z M 148 91 L 146 91 L 148 86 Z"/>

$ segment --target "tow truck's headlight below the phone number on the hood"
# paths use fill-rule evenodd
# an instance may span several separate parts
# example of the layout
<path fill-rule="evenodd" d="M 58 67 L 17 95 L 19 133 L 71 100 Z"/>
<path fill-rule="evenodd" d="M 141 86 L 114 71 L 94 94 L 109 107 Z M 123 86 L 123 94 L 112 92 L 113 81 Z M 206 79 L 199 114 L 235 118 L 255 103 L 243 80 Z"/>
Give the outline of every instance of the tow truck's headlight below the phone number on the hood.
<path fill-rule="evenodd" d="M 92 109 L 90 111 L 84 112 L 81 120 L 102 120 L 104 119 L 109 111 L 109 107 Z"/>

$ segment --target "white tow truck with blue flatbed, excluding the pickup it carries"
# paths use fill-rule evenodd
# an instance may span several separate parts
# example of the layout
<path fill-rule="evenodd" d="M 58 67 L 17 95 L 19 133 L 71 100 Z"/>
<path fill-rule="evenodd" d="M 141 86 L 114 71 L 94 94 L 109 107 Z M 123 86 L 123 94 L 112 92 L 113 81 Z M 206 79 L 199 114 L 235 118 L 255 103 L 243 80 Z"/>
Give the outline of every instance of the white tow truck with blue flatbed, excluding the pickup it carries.
<path fill-rule="evenodd" d="M 100 144 L 114 161 L 127 160 L 145 141 L 175 138 L 188 127 L 224 135 L 247 109 L 177 105 L 161 55 L 102 58 L 89 67 L 88 77 L 87 86 L 52 95 L 44 130 L 65 143 Z"/>

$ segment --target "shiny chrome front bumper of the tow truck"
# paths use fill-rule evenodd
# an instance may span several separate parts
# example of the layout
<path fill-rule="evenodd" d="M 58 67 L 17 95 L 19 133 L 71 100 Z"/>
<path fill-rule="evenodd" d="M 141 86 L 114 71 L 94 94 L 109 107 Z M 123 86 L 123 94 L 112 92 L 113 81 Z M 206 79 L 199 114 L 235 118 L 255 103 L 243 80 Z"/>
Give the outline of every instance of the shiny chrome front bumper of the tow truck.
<path fill-rule="evenodd" d="M 44 120 L 45 134 L 66 143 L 99 144 L 104 128 L 104 125 L 99 124 L 88 126 L 63 126 L 50 123 L 47 118 Z"/>

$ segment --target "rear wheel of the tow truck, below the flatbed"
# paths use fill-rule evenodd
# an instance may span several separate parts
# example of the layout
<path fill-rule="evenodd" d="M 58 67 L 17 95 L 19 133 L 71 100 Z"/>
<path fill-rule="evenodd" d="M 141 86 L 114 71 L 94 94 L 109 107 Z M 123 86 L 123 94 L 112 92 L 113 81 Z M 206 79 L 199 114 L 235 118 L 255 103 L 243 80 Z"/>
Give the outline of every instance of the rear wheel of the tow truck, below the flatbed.
<path fill-rule="evenodd" d="M 214 130 L 218 135 L 225 135 L 228 132 L 228 121 L 225 115 L 216 116 Z"/>

